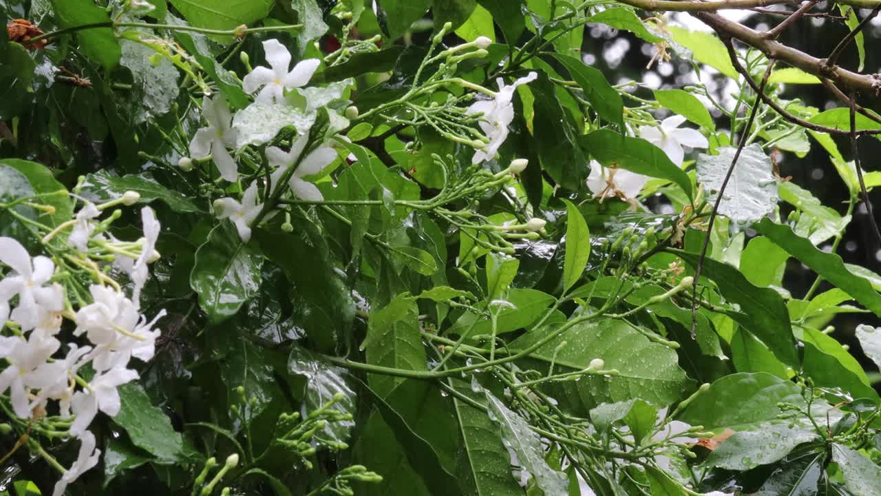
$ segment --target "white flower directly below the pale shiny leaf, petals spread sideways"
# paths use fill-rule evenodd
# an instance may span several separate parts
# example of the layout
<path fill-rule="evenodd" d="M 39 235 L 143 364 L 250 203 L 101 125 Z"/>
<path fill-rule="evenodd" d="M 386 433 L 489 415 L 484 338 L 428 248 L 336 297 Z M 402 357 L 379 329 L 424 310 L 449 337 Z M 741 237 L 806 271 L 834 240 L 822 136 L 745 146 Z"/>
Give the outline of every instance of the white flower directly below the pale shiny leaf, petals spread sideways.
<path fill-rule="evenodd" d="M 303 148 L 309 140 L 307 135 L 300 136 L 293 142 L 290 152 L 285 152 L 278 147 L 266 148 L 266 156 L 270 159 L 270 165 L 277 168 L 272 172 L 272 187 L 276 187 L 278 181 L 285 174 L 285 170 L 297 163 Z M 297 169 L 293 172 L 287 184 L 291 186 L 293 196 L 299 199 L 310 201 L 320 201 L 324 199 L 322 192 L 318 191 L 315 184 L 309 183 L 303 177 L 318 174 L 330 163 L 337 160 L 337 150 L 331 147 L 317 147 L 315 150 L 303 157 L 303 160 L 297 164 Z"/>

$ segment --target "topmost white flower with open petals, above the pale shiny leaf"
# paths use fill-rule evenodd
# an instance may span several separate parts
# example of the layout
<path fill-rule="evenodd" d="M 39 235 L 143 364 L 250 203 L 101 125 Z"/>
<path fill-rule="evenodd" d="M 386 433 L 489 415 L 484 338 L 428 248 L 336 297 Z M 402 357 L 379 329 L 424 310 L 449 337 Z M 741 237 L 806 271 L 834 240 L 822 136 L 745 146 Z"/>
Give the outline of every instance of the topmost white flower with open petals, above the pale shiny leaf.
<path fill-rule="evenodd" d="M 306 86 L 309 79 L 312 79 L 312 74 L 321 64 L 317 58 L 310 58 L 300 61 L 288 72 L 287 70 L 291 66 L 291 52 L 287 51 L 278 40 L 263 41 L 263 52 L 266 53 L 266 62 L 269 62 L 272 68 L 255 67 L 253 71 L 241 79 L 242 88 L 250 94 L 263 86 L 255 98 L 255 101 L 259 103 L 285 101 L 285 88 L 293 89 Z"/>

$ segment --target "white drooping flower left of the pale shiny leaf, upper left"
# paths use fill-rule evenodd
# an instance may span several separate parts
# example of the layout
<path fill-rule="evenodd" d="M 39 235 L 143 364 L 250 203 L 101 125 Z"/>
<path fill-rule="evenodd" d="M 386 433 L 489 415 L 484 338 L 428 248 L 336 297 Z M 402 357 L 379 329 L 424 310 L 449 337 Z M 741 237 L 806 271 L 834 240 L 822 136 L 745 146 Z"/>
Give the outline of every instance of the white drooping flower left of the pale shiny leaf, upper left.
<path fill-rule="evenodd" d="M 218 166 L 220 177 L 229 182 L 234 182 L 239 177 L 238 168 L 226 147 L 235 147 L 235 138 L 238 134 L 232 127 L 233 116 L 229 113 L 229 107 L 223 96 L 218 95 L 214 100 L 207 96 L 202 99 L 202 115 L 208 123 L 196 131 L 193 140 L 189 142 L 189 154 L 197 159 L 204 159 L 211 155 L 214 164 Z"/>

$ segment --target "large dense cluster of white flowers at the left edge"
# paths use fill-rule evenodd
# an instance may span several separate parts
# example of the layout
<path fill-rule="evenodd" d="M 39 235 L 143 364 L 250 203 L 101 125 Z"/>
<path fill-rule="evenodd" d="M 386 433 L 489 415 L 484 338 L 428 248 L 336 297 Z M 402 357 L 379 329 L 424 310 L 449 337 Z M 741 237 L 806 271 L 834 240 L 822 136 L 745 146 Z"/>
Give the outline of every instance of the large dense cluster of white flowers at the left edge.
<path fill-rule="evenodd" d="M 97 220 L 107 207 L 135 201 L 137 193 L 129 192 L 99 206 L 85 202 L 74 219 L 43 238 L 55 261 L 43 255 L 32 257 L 19 241 L 0 237 L 0 330 L 4 331 L 0 358 L 5 361 L 0 394 L 9 395 L 11 412 L 6 413 L 21 421 L 40 422 L 51 412 L 61 419 L 56 425 L 67 426 L 67 434 L 80 441 L 77 461 L 63 472 L 55 496 L 61 496 L 70 482 L 98 462 L 100 450 L 88 427 L 99 410 L 109 416 L 119 412 L 117 387 L 138 377 L 130 369 L 131 358 L 150 360 L 159 337 L 153 327 L 165 312 L 148 320 L 139 312 L 138 303 L 149 275 L 147 264 L 159 257 L 155 214 L 150 207 L 142 209 L 144 237 L 137 242 L 123 242 L 104 232 L 118 214 L 105 222 Z M 67 245 L 51 244 L 67 228 L 71 228 Z M 115 259 L 114 266 L 130 277 L 132 297 L 100 270 L 90 252 Z M 66 264 L 56 266 L 58 260 L 87 267 L 86 274 L 99 283 L 84 293 L 78 277 L 82 274 L 71 273 Z M 63 342 L 70 335 L 63 332 L 65 322 L 74 338 L 67 342 Z M 85 339 L 80 337 L 84 335 Z"/>

